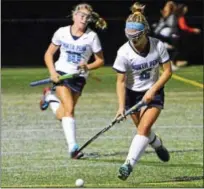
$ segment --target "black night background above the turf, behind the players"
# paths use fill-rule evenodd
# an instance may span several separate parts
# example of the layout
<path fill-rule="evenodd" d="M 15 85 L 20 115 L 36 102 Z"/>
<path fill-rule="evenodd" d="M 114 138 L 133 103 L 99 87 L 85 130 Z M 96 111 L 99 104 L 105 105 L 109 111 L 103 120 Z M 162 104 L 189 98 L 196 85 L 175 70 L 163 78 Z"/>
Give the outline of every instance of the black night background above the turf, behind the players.
<path fill-rule="evenodd" d="M 105 64 L 112 65 L 117 49 L 126 41 L 125 19 L 131 13 L 132 0 L 4 0 L 2 11 L 2 67 L 44 66 L 43 56 L 53 33 L 61 26 L 72 23 L 70 18 L 74 5 L 87 2 L 108 22 L 106 31 L 98 31 L 105 55 Z M 145 15 L 150 24 L 160 18 L 160 9 L 165 0 L 140 0 L 146 4 Z M 176 0 L 189 7 L 186 15 L 188 24 L 202 29 L 203 0 Z M 189 37 L 191 64 L 203 64 L 203 32 Z M 57 58 L 57 56 L 56 56 Z"/>

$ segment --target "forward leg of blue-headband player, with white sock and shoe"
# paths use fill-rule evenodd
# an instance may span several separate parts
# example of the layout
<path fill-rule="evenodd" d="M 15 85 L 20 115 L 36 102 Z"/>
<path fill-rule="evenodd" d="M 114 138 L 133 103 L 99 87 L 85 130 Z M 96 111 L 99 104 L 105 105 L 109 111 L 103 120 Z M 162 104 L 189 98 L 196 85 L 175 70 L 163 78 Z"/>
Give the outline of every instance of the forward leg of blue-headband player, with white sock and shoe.
<path fill-rule="evenodd" d="M 125 163 L 119 169 L 118 177 L 120 179 L 126 180 L 128 178 L 134 165 L 145 152 L 145 149 L 149 144 L 149 132 L 159 116 L 160 111 L 161 110 L 156 107 L 148 107 L 141 110 L 140 116 L 142 116 L 139 120 L 137 134 L 132 140 Z"/>

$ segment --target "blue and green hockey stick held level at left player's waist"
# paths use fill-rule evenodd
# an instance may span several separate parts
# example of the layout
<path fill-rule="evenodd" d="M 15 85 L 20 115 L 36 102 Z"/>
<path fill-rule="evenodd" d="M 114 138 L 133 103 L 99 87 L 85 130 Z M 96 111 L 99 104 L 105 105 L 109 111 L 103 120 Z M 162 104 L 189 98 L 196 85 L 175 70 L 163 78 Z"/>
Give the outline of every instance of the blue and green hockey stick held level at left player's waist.
<path fill-rule="evenodd" d="M 75 74 L 65 74 L 65 75 L 59 76 L 59 81 L 78 77 L 80 75 L 80 73 L 81 72 L 75 73 Z M 44 84 L 48 84 L 48 83 L 52 83 L 52 82 L 53 81 L 50 78 L 47 78 L 47 79 L 42 79 L 42 80 L 38 80 L 38 81 L 33 81 L 30 83 L 30 86 L 35 87 L 35 86 L 44 85 Z"/>

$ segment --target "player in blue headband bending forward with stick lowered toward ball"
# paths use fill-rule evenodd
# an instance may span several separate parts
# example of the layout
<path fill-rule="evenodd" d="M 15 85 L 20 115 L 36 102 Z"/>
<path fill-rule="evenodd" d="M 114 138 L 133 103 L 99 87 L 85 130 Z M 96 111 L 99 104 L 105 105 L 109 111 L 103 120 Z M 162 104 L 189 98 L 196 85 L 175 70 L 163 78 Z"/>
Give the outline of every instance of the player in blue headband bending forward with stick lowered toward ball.
<path fill-rule="evenodd" d="M 164 85 L 172 75 L 171 61 L 164 44 L 147 35 L 149 24 L 142 14 L 143 9 L 144 6 L 137 2 L 131 7 L 132 14 L 127 18 L 125 26 L 128 42 L 118 50 L 113 65 L 117 71 L 116 91 L 119 103 L 116 117 L 124 116 L 125 109 L 141 100 L 146 104 L 131 114 L 137 134 L 124 164 L 119 168 L 118 177 L 121 180 L 128 178 L 148 144 L 160 160 L 167 162 L 170 159 L 161 139 L 151 128 L 164 106 Z M 160 65 L 163 68 L 161 76 Z"/>

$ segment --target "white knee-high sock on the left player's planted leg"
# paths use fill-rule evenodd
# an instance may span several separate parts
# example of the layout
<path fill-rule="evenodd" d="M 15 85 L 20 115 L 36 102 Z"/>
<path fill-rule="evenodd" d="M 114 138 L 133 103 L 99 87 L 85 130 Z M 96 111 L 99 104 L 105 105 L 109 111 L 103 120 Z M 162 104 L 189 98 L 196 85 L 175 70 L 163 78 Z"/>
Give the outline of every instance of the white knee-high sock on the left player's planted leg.
<path fill-rule="evenodd" d="M 65 138 L 68 144 L 69 152 L 73 149 L 76 144 L 76 124 L 73 117 L 63 117 L 62 127 L 64 130 Z"/>

